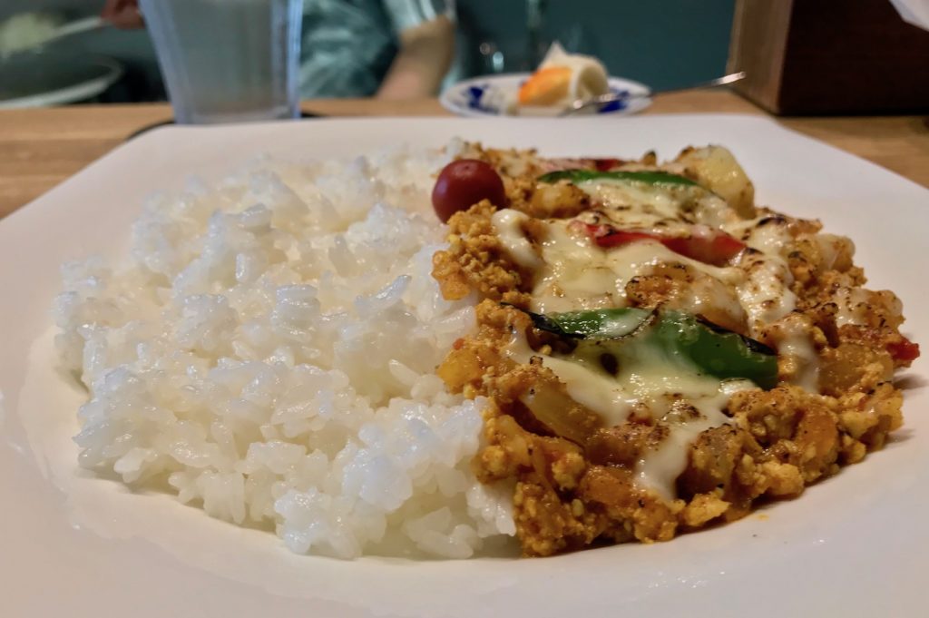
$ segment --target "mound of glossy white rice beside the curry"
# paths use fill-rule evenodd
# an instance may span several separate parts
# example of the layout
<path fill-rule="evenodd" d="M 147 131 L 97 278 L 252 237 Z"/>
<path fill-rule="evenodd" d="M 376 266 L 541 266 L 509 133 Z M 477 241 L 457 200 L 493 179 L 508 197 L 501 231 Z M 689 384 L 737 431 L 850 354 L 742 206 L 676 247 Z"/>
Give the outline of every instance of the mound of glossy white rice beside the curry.
<path fill-rule="evenodd" d="M 511 488 L 469 467 L 484 402 L 434 373 L 475 327 L 473 299 L 443 300 L 430 276 L 447 161 L 260 160 L 151 199 L 131 264 L 65 265 L 54 313 L 90 393 L 81 466 L 294 552 L 467 558 L 514 534 Z"/>

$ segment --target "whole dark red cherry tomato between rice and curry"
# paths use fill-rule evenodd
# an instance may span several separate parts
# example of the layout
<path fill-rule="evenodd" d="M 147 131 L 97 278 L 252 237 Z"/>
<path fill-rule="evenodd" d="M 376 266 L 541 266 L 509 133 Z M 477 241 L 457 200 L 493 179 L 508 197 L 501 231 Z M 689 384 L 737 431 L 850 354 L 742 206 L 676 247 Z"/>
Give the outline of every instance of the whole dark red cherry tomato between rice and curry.
<path fill-rule="evenodd" d="M 506 192 L 496 170 L 477 159 L 459 159 L 446 165 L 432 190 L 432 205 L 443 223 L 481 200 L 503 208 Z"/>

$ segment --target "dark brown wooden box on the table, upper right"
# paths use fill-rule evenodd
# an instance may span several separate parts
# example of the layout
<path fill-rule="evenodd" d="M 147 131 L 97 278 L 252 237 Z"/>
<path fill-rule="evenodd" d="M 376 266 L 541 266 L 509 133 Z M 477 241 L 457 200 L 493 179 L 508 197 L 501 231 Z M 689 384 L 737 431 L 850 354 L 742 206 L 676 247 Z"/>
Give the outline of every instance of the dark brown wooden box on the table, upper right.
<path fill-rule="evenodd" d="M 770 112 L 929 111 L 929 32 L 890 0 L 737 0 L 728 72 Z"/>

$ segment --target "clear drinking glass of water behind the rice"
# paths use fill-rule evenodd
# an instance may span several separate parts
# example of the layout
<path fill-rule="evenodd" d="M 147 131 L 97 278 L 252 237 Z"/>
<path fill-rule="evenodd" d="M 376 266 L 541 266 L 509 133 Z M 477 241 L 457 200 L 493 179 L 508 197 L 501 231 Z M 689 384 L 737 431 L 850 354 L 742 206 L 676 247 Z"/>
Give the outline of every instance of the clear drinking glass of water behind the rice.
<path fill-rule="evenodd" d="M 294 118 L 303 0 L 141 0 L 181 124 Z"/>

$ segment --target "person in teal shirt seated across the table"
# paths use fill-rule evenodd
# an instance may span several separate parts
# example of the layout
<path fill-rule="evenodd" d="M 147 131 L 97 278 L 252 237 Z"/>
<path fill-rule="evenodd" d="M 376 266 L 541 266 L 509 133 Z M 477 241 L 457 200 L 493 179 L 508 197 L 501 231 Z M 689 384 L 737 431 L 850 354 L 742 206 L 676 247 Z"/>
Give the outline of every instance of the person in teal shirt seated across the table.
<path fill-rule="evenodd" d="M 106 0 L 100 16 L 117 28 L 145 25 L 137 0 Z M 307 1 L 301 94 L 306 98 L 434 96 L 454 55 L 453 17 L 451 2 L 434 0 Z"/>

